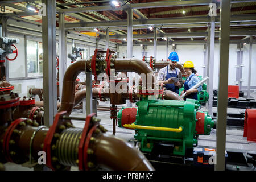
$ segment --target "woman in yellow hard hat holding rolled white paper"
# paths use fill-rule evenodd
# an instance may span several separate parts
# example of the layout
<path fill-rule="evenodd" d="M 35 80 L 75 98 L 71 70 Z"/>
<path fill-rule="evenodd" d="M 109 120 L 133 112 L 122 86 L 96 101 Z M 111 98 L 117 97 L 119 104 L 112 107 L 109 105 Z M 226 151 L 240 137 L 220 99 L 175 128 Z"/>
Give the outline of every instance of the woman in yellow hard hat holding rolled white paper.
<path fill-rule="evenodd" d="M 200 85 L 196 89 L 191 89 L 194 85 L 196 85 L 200 81 L 199 77 L 195 75 L 196 70 L 195 70 L 194 64 L 192 61 L 185 61 L 183 68 L 187 73 L 188 77 L 184 83 L 184 91 L 181 92 L 181 95 L 184 92 L 186 92 L 184 100 L 186 100 L 187 98 L 192 98 L 197 100 L 197 93 L 201 92 L 202 86 Z"/>

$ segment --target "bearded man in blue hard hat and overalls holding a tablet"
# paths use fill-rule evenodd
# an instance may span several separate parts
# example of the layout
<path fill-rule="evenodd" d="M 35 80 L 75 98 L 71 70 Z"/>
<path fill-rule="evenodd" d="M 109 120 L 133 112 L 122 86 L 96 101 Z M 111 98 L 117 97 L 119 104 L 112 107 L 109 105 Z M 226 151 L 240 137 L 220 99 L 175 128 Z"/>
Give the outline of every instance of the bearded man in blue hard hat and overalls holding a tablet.
<path fill-rule="evenodd" d="M 179 88 L 183 86 L 182 73 L 176 68 L 179 56 L 176 52 L 171 52 L 168 61 L 170 64 L 160 69 L 158 73 L 158 82 L 163 83 L 167 90 L 179 94 Z"/>

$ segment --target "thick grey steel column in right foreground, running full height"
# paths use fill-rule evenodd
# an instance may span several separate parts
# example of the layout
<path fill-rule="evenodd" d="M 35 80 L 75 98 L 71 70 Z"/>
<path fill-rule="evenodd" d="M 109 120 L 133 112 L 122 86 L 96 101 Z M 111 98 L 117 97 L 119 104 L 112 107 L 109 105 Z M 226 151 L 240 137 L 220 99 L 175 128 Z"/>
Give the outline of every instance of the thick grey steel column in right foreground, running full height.
<path fill-rule="evenodd" d="M 218 76 L 216 171 L 225 170 L 226 114 L 229 73 L 230 0 L 221 1 L 220 11 L 220 72 Z M 212 68 L 211 68 L 212 69 Z"/>

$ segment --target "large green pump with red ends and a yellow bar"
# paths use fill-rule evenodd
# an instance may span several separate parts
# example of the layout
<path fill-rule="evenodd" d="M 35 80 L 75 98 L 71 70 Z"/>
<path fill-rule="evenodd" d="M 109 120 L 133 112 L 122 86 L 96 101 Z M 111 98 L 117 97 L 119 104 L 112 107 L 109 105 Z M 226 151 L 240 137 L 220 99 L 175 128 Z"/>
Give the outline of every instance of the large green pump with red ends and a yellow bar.
<path fill-rule="evenodd" d="M 138 108 L 127 107 L 118 112 L 118 126 L 135 129 L 134 138 L 141 142 L 141 151 L 151 152 L 154 143 L 171 143 L 173 154 L 184 156 L 187 148 L 197 145 L 199 135 L 210 134 L 213 120 L 198 110 L 198 101 L 146 98 L 136 103 Z"/>

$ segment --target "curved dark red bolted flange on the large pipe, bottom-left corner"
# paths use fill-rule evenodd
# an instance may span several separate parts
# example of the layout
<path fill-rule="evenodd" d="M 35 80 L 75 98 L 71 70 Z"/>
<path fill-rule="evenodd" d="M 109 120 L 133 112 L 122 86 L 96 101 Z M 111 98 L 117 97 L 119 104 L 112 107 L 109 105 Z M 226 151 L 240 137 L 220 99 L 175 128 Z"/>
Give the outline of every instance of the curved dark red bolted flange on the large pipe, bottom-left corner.
<path fill-rule="evenodd" d="M 28 158 L 20 158 L 23 156 L 20 152 L 19 139 L 20 135 L 23 133 L 25 127 L 34 126 L 31 119 L 19 118 L 11 123 L 7 128 L 5 135 L 3 137 L 3 156 L 7 162 L 14 162 L 17 164 L 22 164 L 27 162 Z"/>

